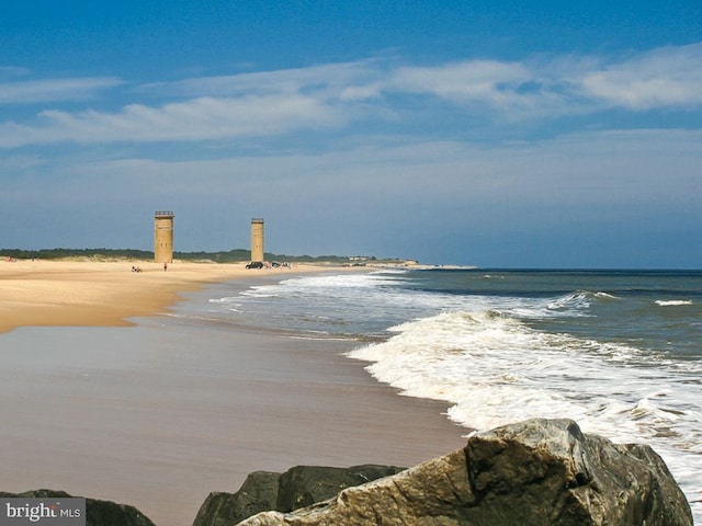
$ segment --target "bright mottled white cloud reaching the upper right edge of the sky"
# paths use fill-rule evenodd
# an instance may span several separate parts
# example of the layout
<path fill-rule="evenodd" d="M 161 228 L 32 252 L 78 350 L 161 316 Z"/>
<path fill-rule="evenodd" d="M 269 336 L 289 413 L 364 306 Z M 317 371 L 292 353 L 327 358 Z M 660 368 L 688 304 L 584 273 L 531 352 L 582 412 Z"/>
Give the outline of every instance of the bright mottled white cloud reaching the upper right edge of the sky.
<path fill-rule="evenodd" d="M 695 107 L 702 105 L 702 44 L 658 48 L 619 61 L 562 56 L 406 67 L 390 73 L 384 90 L 434 95 L 510 117 Z"/>

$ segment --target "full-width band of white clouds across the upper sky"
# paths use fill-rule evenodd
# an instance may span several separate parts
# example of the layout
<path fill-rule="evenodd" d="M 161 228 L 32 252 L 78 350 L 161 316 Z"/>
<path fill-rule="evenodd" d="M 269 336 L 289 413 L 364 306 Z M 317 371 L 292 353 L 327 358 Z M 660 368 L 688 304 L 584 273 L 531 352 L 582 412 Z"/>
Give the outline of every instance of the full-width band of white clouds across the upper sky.
<path fill-rule="evenodd" d="M 396 62 L 367 59 L 145 84 L 121 96 L 158 96 L 172 102 L 147 105 L 135 101 L 117 112 L 48 108 L 34 121 L 0 124 L 0 148 L 57 141 L 272 137 L 340 127 L 360 118 L 386 123 L 388 114 L 404 115 L 411 99 L 427 108 L 427 115 L 441 104 L 453 106 L 456 115 L 488 116 L 492 122 L 539 123 L 610 110 L 702 106 L 702 44 L 615 59 L 564 55 L 519 62 Z M 0 83 L 0 103 L 86 99 L 120 83 L 113 78 Z"/>

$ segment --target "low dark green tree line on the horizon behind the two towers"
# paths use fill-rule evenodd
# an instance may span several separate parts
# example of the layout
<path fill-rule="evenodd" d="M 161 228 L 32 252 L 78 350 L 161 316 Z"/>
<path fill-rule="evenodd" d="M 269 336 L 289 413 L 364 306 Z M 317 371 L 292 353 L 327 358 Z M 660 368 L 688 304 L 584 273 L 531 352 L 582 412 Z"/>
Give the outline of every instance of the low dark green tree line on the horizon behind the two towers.
<path fill-rule="evenodd" d="M 245 249 L 230 250 L 228 252 L 173 252 L 173 259 L 182 261 L 212 261 L 215 263 L 235 263 L 249 261 L 251 252 Z M 81 259 L 95 261 L 110 260 L 152 260 L 154 252 L 134 249 L 43 249 L 21 250 L 0 249 L 3 259 L 15 258 L 18 260 L 65 260 Z M 377 261 L 375 256 L 346 256 L 346 255 L 284 255 L 265 253 L 265 261 L 280 261 L 290 263 L 363 263 Z"/>

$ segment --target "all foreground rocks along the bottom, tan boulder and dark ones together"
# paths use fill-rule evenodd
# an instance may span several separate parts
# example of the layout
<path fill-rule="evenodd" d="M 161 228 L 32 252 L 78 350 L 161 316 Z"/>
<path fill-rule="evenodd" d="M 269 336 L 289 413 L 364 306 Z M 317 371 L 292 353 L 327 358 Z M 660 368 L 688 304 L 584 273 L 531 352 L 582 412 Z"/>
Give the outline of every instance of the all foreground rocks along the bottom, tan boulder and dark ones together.
<path fill-rule="evenodd" d="M 0 496 L 69 498 L 37 490 Z M 87 499 L 87 526 L 154 526 L 138 510 Z M 690 506 L 645 445 L 529 420 L 472 435 L 414 468 L 299 466 L 257 471 L 211 493 L 193 526 L 692 526 Z M 165 525 L 167 526 L 167 525 Z"/>

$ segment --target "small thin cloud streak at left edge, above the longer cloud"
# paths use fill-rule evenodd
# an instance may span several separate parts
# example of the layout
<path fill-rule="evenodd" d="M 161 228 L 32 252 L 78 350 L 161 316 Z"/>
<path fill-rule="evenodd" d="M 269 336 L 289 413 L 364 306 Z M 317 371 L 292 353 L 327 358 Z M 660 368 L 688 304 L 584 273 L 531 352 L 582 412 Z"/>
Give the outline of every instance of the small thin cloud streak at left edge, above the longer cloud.
<path fill-rule="evenodd" d="M 5 82 L 0 83 L 0 104 L 81 101 L 93 99 L 99 91 L 122 83 L 113 77 Z"/>

